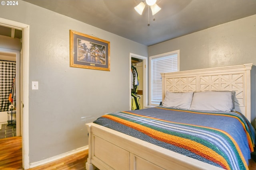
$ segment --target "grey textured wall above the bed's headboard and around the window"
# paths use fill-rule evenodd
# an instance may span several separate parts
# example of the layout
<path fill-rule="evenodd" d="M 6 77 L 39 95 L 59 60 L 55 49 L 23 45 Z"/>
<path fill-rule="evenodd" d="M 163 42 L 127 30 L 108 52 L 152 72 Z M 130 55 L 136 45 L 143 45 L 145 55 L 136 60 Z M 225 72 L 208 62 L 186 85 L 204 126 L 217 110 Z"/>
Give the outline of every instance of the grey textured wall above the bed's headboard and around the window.
<path fill-rule="evenodd" d="M 253 63 L 252 119 L 256 117 L 256 15 L 148 48 L 149 56 L 180 50 L 180 71 Z"/>

